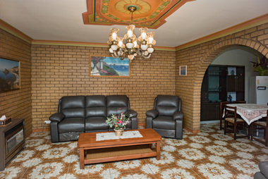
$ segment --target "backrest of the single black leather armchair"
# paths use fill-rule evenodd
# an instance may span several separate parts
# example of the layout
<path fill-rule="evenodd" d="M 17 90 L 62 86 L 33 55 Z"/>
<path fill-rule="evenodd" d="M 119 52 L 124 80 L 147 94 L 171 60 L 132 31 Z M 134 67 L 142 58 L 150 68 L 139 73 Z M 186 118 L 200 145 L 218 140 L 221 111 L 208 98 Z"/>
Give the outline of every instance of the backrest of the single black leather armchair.
<path fill-rule="evenodd" d="M 158 95 L 154 101 L 154 109 L 159 116 L 173 116 L 176 111 L 181 111 L 181 98 L 173 95 Z"/>

